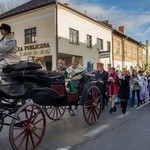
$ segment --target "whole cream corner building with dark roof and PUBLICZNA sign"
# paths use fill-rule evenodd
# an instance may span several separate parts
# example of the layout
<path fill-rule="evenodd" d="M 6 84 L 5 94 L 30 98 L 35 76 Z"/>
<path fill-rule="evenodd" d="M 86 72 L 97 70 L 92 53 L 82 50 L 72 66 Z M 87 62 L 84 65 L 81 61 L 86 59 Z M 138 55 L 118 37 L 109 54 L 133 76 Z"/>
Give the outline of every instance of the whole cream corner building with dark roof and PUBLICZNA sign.
<path fill-rule="evenodd" d="M 69 66 L 75 55 L 84 67 L 96 69 L 99 51 L 112 49 L 111 27 L 57 1 L 43 2 L 32 0 L 0 15 L 0 23 L 12 26 L 21 59 L 40 57 L 53 70 L 59 58 Z M 106 68 L 110 61 L 105 59 Z"/>

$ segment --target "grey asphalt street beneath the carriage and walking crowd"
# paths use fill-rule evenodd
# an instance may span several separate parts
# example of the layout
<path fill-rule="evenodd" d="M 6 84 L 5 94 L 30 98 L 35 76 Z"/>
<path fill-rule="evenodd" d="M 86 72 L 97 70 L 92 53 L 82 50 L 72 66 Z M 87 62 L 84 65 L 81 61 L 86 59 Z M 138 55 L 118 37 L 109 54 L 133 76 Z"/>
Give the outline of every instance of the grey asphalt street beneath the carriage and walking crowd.
<path fill-rule="evenodd" d="M 127 108 L 121 113 L 110 114 L 109 107 L 102 113 L 98 124 L 89 126 L 82 114 L 69 116 L 67 110 L 62 119 L 51 121 L 47 118 L 46 134 L 38 150 L 148 150 L 150 147 L 150 101 L 139 108 Z M 11 150 L 8 127 L 0 133 L 1 150 Z"/>

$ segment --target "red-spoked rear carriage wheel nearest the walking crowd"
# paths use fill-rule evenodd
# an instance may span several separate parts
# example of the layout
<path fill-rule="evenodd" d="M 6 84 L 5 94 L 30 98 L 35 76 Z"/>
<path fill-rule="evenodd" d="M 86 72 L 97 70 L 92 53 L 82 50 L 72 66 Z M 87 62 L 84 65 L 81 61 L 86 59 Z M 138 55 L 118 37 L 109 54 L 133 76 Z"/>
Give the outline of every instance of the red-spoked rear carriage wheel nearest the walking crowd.
<path fill-rule="evenodd" d="M 96 86 L 88 90 L 88 100 L 83 104 L 83 115 L 89 125 L 97 123 L 102 112 L 102 96 Z"/>

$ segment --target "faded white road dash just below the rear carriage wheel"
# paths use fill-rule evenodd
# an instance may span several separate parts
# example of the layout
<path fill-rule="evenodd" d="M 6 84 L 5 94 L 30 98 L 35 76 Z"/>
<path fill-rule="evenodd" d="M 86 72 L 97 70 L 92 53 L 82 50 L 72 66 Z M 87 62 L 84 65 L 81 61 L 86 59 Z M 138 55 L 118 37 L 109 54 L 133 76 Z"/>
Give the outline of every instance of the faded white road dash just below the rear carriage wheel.
<path fill-rule="evenodd" d="M 83 136 L 86 136 L 86 137 L 93 137 L 95 136 L 96 134 L 98 134 L 99 132 L 103 131 L 104 129 L 108 128 L 109 125 L 101 125 L 100 127 L 90 131 L 90 132 L 87 132 L 86 134 L 84 134 Z"/>

